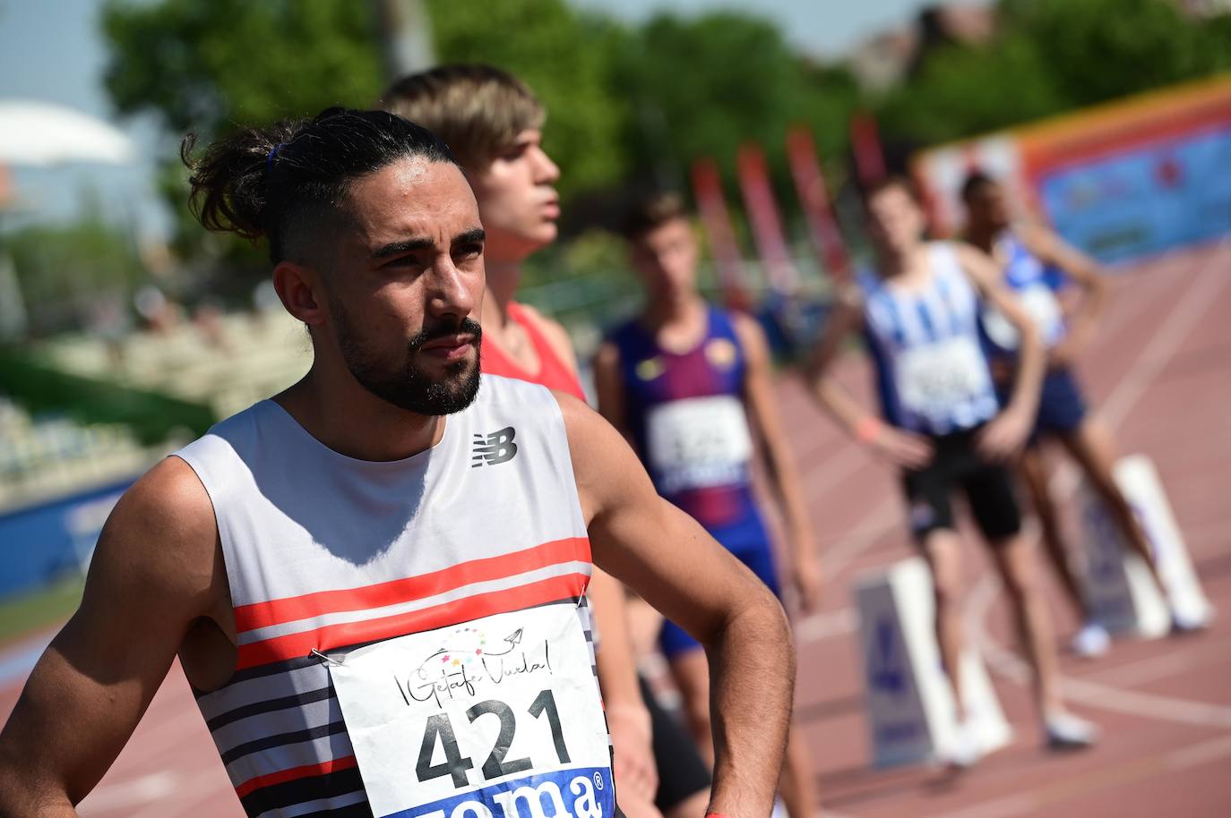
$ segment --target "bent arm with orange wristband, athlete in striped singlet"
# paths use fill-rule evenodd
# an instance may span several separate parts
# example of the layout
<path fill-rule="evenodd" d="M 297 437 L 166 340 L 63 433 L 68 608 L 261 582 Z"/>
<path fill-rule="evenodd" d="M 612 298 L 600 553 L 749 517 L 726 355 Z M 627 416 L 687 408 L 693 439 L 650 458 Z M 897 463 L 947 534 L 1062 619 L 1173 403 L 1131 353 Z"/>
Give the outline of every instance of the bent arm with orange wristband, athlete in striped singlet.
<path fill-rule="evenodd" d="M 804 378 L 810 391 L 838 426 L 875 454 L 905 469 L 920 469 L 932 459 L 932 447 L 920 435 L 886 426 L 859 405 L 832 374 L 842 344 L 863 327 L 858 288 L 843 287 L 830 308 L 825 331 L 812 347 Z"/>

